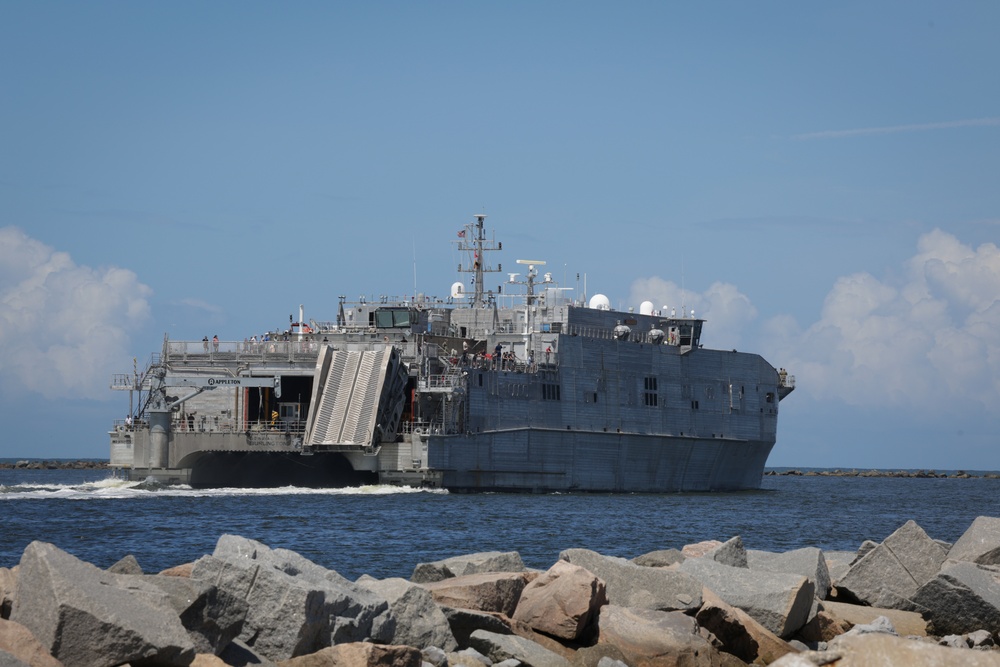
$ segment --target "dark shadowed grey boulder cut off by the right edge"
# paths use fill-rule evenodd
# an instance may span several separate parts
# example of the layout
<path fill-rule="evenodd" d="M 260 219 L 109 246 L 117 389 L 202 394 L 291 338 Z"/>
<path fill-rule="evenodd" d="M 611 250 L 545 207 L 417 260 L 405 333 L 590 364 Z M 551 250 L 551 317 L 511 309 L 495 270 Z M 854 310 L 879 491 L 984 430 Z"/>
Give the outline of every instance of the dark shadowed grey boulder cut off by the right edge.
<path fill-rule="evenodd" d="M 936 635 L 1000 633 L 1000 567 L 948 560 L 913 602 Z"/>

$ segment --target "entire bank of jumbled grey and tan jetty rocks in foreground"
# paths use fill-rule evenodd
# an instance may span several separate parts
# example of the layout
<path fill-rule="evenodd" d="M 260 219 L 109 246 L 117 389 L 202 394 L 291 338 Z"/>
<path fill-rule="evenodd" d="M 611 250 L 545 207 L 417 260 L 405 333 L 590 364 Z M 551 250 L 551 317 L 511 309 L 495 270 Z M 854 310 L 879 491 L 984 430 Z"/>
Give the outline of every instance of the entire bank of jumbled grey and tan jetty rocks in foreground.
<path fill-rule="evenodd" d="M 857 552 L 740 537 L 631 560 L 516 552 L 350 581 L 223 535 L 192 563 L 107 570 L 44 542 L 0 568 L 0 667 L 996 665 L 1000 518 L 954 544 L 910 521 Z"/>

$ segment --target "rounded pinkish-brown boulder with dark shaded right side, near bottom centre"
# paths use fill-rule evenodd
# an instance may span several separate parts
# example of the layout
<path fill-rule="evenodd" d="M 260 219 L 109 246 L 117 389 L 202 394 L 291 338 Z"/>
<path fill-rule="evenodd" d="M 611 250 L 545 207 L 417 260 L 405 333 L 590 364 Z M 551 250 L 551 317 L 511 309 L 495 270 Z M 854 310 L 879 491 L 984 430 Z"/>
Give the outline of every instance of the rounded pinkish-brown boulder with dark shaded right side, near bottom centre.
<path fill-rule="evenodd" d="M 607 603 L 603 581 L 579 565 L 557 561 L 525 586 L 512 618 L 537 632 L 578 641 L 590 634 Z"/>

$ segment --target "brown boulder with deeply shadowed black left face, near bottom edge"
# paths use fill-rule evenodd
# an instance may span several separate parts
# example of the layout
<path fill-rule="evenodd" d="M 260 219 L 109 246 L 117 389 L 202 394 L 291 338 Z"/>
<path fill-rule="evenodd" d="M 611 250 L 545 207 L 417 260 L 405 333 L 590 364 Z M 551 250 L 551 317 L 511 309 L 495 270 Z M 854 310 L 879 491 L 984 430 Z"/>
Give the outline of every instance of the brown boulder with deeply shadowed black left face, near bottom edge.
<path fill-rule="evenodd" d="M 711 632 L 721 642 L 722 650 L 743 662 L 770 664 L 795 649 L 776 634 L 758 623 L 742 609 L 726 604 L 712 591 L 705 589 L 704 602 L 695 614 L 698 625 Z"/>

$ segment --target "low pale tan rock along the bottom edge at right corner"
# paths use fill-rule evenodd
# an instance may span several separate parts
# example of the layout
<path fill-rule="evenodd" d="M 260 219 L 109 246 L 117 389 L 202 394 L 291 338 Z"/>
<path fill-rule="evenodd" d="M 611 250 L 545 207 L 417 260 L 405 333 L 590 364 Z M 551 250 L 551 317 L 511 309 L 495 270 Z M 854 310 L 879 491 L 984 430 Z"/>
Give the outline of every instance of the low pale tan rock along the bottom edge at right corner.
<path fill-rule="evenodd" d="M 842 637 L 826 651 L 786 655 L 772 667 L 1000 667 L 1000 656 L 988 651 L 972 651 L 937 646 L 929 642 L 903 639 L 886 634 Z"/>

